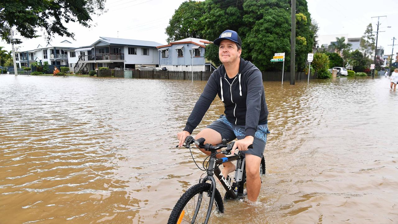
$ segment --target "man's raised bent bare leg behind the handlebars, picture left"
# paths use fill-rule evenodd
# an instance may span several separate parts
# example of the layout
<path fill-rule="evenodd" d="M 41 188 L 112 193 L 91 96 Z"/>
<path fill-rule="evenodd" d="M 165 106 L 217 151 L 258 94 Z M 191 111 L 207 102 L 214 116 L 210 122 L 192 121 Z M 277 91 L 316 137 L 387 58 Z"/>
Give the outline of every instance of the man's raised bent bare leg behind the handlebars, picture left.
<path fill-rule="evenodd" d="M 206 140 L 205 143 L 209 143 L 212 145 L 217 145 L 222 142 L 220 133 L 218 133 L 217 131 L 215 131 L 211 128 L 205 128 L 205 129 L 201 130 L 201 132 L 199 132 L 199 134 L 197 134 L 195 136 L 195 139 L 199 139 L 199 138 L 204 138 Z M 205 149 L 200 149 L 200 150 L 203 153 L 205 153 L 206 155 L 210 155 L 209 151 L 206 151 Z M 222 158 L 222 157 L 225 157 L 225 155 L 220 153 L 216 157 Z M 228 175 L 228 173 L 235 171 L 235 165 L 231 162 L 222 163 L 222 165 L 224 165 L 224 169 L 222 169 L 221 173 L 225 178 Z"/>

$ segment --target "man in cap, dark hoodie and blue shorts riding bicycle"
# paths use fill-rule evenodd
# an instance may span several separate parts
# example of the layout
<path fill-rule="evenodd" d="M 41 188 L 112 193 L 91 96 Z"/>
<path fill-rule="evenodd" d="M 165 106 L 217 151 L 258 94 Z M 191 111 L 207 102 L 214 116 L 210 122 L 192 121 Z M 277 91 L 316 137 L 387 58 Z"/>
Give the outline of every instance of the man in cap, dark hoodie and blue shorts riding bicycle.
<path fill-rule="evenodd" d="M 238 139 L 231 153 L 233 154 L 237 148 L 245 156 L 248 199 L 256 201 L 261 188 L 260 162 L 269 133 L 268 109 L 261 72 L 250 61 L 240 57 L 242 40 L 235 31 L 227 29 L 222 32 L 214 44 L 219 45 L 219 59 L 222 65 L 211 74 L 184 130 L 177 134 L 179 146 L 183 145 L 185 138 L 198 126 L 218 94 L 224 102 L 225 116 L 221 115 L 195 138 L 205 138 L 205 143 L 212 145 L 221 143 L 222 139 L 227 141 Z M 251 144 L 253 148 L 248 149 Z M 210 154 L 204 149 L 201 151 Z M 217 157 L 223 155 L 218 154 Z M 223 165 L 224 177 L 235 170 L 235 165 L 231 162 Z"/>

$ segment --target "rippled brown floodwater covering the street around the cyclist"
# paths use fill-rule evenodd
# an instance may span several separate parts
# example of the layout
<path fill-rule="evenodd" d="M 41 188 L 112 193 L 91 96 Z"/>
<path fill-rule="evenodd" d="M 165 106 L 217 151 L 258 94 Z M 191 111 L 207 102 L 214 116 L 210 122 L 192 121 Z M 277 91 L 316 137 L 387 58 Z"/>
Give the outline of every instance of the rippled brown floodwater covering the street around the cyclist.
<path fill-rule="evenodd" d="M 0 224 L 166 223 L 203 173 L 175 145 L 205 84 L 0 75 Z M 258 203 L 228 201 L 211 223 L 398 223 L 389 79 L 264 86 Z M 216 98 L 193 134 L 222 113 Z"/>

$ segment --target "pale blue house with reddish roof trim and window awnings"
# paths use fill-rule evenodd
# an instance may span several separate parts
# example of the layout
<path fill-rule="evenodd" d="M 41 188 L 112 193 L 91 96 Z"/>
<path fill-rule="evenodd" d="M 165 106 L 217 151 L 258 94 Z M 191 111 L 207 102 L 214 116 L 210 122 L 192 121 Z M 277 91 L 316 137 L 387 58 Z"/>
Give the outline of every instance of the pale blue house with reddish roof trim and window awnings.
<path fill-rule="evenodd" d="M 159 66 L 166 67 L 169 71 L 215 70 L 211 62 L 205 59 L 205 49 L 209 43 L 205 39 L 189 37 L 158 46 Z"/>

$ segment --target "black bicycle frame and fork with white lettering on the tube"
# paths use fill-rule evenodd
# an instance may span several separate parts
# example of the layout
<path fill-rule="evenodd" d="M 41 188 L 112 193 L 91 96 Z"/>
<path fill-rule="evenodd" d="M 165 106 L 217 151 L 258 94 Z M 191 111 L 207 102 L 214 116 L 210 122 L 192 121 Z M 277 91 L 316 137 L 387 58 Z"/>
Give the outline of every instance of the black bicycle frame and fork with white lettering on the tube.
<path fill-rule="evenodd" d="M 215 155 L 217 153 L 217 150 L 211 150 L 211 155 Z M 236 190 L 238 190 L 238 183 L 240 181 L 242 181 L 242 176 L 243 176 L 243 167 L 245 164 L 245 158 L 240 155 L 240 153 L 238 152 L 238 155 L 232 155 L 230 157 L 224 157 L 224 158 L 219 158 L 217 159 L 215 156 L 211 156 L 210 160 L 209 160 L 209 167 L 213 167 L 213 169 L 208 170 L 207 171 L 207 176 L 203 179 L 199 179 L 199 183 L 205 183 L 207 181 L 211 181 L 211 197 L 210 197 L 210 202 L 209 202 L 209 209 L 207 210 L 207 214 L 206 214 L 206 219 L 205 219 L 205 224 L 207 224 L 207 222 L 209 221 L 209 217 L 211 214 L 211 209 L 213 208 L 213 202 L 214 202 L 214 194 L 215 194 L 215 190 L 216 190 L 216 181 L 213 177 L 213 175 L 216 175 L 217 179 L 220 180 L 220 183 L 222 185 L 222 187 L 224 187 L 225 191 L 227 192 L 227 194 L 233 198 L 236 199 L 238 198 L 238 193 L 235 193 L 234 190 L 232 189 L 231 181 L 230 178 L 227 179 L 227 177 L 224 177 L 219 169 L 219 167 L 216 167 L 216 165 L 218 164 L 222 164 L 228 161 L 235 161 L 237 160 L 236 163 L 236 172 L 235 172 L 235 181 L 236 181 Z M 200 204 L 202 201 L 202 195 L 199 196 L 198 202 L 197 202 L 197 206 L 196 206 L 196 210 L 195 213 L 193 215 L 193 217 L 196 217 L 197 212 L 199 211 L 200 208 Z"/>

